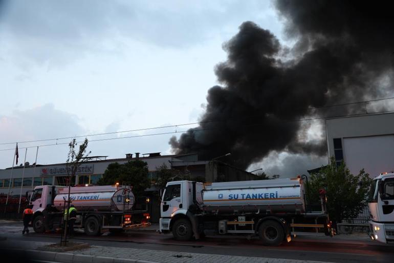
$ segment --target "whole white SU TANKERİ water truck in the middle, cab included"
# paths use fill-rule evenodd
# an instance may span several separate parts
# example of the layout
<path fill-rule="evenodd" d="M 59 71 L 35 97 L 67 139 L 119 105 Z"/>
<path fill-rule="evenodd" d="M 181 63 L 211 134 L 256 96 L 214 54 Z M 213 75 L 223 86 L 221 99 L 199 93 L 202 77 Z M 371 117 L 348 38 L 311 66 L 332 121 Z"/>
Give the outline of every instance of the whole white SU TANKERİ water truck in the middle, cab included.
<path fill-rule="evenodd" d="M 171 181 L 162 196 L 160 232 L 172 231 L 178 240 L 212 234 L 258 236 L 270 246 L 297 234 L 333 236 L 325 201 L 321 192 L 317 206 L 307 204 L 299 178 L 209 184 Z"/>

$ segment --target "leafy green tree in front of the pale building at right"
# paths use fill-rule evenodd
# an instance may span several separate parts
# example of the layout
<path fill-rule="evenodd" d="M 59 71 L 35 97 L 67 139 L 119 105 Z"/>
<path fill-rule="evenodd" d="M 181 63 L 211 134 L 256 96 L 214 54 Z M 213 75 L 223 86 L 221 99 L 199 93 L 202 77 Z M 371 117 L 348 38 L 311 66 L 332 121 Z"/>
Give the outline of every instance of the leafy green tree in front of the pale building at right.
<path fill-rule="evenodd" d="M 361 169 L 353 175 L 342 161 L 337 166 L 334 157 L 330 164 L 312 174 L 309 180 L 311 198 L 324 189 L 327 196 L 327 211 L 336 224 L 345 218 L 356 217 L 366 205 L 366 196 L 372 179 Z"/>

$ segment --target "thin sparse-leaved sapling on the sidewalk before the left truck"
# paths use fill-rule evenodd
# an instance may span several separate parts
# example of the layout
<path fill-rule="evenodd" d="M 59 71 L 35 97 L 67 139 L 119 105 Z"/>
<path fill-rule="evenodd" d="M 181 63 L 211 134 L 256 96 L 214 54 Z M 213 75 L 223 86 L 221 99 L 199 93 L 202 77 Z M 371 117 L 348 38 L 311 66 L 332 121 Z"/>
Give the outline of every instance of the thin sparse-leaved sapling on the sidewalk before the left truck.
<path fill-rule="evenodd" d="M 69 188 L 69 193 L 67 197 L 67 206 L 64 206 L 66 212 L 66 218 L 64 221 L 64 236 L 63 240 L 60 240 L 61 245 L 67 246 L 67 228 L 68 228 L 68 223 L 69 223 L 69 210 L 70 210 L 70 192 L 71 192 L 71 179 L 74 178 L 75 174 L 78 171 L 78 168 L 86 162 L 87 156 L 91 153 L 89 151 L 86 153 L 86 148 L 87 148 L 87 143 L 88 140 L 87 138 L 84 139 L 83 143 L 79 146 L 78 152 L 76 152 L 76 147 L 78 145 L 76 139 L 72 139 L 69 143 L 69 153 L 67 154 L 67 160 L 65 161 L 65 170 L 67 171 L 67 186 Z"/>

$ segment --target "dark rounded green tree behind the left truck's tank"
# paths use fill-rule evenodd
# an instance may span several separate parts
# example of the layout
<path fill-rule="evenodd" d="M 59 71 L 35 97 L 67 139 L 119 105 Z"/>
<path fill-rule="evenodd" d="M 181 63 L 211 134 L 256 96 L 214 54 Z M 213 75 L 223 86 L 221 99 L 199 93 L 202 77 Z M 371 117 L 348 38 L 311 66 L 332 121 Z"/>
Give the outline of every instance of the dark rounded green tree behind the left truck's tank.
<path fill-rule="evenodd" d="M 99 179 L 98 185 L 115 185 L 116 183 L 132 186 L 136 196 L 143 195 L 145 189 L 150 187 L 146 162 L 130 160 L 125 164 L 112 163 L 108 165 L 103 177 Z"/>

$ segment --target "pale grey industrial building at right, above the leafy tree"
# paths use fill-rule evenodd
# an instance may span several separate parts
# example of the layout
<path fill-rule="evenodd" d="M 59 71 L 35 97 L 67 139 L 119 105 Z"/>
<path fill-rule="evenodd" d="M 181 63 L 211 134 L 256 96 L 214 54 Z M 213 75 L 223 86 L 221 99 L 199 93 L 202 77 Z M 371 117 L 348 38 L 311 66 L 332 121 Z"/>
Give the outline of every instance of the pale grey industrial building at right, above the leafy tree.
<path fill-rule="evenodd" d="M 325 124 L 328 155 L 345 161 L 351 173 L 394 171 L 394 113 L 328 118 Z"/>

